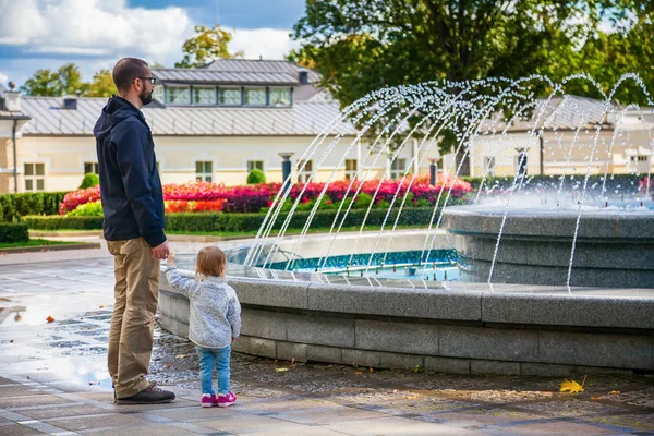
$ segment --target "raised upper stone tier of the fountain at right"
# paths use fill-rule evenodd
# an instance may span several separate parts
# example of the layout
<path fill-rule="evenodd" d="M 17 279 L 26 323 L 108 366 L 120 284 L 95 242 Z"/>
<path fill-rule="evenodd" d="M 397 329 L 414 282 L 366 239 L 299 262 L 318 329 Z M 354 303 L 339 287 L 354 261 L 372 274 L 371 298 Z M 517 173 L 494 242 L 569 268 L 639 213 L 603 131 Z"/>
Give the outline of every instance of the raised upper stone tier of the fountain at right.
<path fill-rule="evenodd" d="M 445 210 L 463 281 L 488 280 L 504 214 L 488 206 Z M 571 209 L 511 208 L 492 282 L 566 284 L 577 217 Z M 654 288 L 654 210 L 582 210 L 572 267 L 570 286 Z"/>

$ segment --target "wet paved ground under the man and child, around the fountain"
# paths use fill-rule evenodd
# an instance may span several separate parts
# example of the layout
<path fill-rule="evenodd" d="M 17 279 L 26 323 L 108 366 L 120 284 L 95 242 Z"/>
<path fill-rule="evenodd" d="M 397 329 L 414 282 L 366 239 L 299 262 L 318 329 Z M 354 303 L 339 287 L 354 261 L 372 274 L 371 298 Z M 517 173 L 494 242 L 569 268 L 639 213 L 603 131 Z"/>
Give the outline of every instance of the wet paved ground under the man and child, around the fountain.
<path fill-rule="evenodd" d="M 560 378 L 234 354 L 238 403 L 202 409 L 193 347 L 158 326 L 149 378 L 178 400 L 117 407 L 106 372 L 112 284 L 102 250 L 0 257 L 0 435 L 654 435 L 646 375 L 589 374 L 585 392 L 570 395 Z"/>

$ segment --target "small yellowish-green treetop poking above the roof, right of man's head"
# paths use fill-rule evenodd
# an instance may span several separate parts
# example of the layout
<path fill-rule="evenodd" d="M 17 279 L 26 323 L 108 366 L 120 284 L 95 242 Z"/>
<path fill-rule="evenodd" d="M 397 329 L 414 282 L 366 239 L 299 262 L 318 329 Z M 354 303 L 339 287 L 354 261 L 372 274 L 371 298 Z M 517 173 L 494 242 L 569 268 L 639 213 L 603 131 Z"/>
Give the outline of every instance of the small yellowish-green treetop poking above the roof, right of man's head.
<path fill-rule="evenodd" d="M 182 46 L 184 58 L 174 64 L 175 68 L 199 68 L 216 59 L 242 58 L 243 52 L 230 55 L 228 44 L 231 33 L 216 24 L 213 28 L 195 26 L 195 36 L 186 39 Z"/>

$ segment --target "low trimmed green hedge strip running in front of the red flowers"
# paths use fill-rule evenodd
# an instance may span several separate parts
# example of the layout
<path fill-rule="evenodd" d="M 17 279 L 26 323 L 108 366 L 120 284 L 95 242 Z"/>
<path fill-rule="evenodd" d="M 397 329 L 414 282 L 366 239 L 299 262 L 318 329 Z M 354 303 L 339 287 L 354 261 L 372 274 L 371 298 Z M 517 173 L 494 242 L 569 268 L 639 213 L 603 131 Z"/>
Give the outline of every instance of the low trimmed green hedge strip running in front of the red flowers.
<path fill-rule="evenodd" d="M 392 209 L 387 226 L 392 226 L 398 209 Z M 400 217 L 400 226 L 427 226 L 432 218 L 431 208 L 405 208 Z M 279 229 L 288 216 L 288 213 L 279 214 L 275 222 L 275 229 Z M 289 229 L 302 229 L 310 216 L 308 211 L 296 211 L 291 218 Z M 365 216 L 365 209 L 350 210 L 344 227 L 360 226 Z M 169 214 L 166 216 L 166 230 L 178 232 L 214 232 L 214 231 L 253 231 L 258 230 L 264 221 L 265 214 Z M 312 228 L 330 227 L 336 210 L 317 211 Z M 342 214 L 341 216 L 342 217 Z M 339 223 L 340 218 L 339 217 Z M 385 209 L 372 209 L 366 225 L 380 226 L 386 217 Z M 31 229 L 34 230 L 59 230 L 59 229 L 101 229 L 101 217 L 24 217 Z"/>

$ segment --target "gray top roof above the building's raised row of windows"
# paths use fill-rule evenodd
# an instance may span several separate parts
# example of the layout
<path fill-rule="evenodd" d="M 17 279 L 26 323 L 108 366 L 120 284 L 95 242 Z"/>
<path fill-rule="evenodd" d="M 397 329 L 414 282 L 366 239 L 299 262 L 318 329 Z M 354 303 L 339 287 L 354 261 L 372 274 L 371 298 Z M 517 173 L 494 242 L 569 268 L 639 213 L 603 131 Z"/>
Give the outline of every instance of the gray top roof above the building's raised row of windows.
<path fill-rule="evenodd" d="M 318 72 L 302 69 L 289 61 L 246 59 L 220 59 L 201 69 L 153 69 L 153 75 L 167 83 L 298 86 L 301 70 L 307 72 L 310 83 L 320 78 Z"/>

